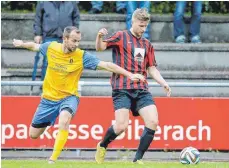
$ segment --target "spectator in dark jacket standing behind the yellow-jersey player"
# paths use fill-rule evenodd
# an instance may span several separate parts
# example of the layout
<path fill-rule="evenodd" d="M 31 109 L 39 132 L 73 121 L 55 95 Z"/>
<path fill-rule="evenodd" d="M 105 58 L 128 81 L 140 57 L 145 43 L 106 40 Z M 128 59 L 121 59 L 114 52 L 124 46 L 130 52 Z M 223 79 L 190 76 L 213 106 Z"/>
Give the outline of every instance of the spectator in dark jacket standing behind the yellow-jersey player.
<path fill-rule="evenodd" d="M 44 1 L 38 2 L 34 20 L 34 41 L 45 43 L 57 41 L 62 43 L 64 28 L 76 26 L 79 28 L 80 14 L 76 2 L 71 1 Z M 36 79 L 37 65 L 40 53 L 35 56 L 32 80 Z M 44 80 L 47 68 L 47 58 L 43 57 L 41 80 Z M 32 88 L 31 88 L 32 90 Z"/>

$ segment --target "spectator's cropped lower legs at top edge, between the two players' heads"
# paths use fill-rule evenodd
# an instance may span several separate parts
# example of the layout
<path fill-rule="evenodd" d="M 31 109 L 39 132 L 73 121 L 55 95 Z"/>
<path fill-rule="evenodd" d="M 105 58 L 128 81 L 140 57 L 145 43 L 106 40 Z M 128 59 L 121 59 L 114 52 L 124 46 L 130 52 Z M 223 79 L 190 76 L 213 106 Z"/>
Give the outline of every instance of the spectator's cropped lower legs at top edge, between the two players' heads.
<path fill-rule="evenodd" d="M 91 1 L 92 8 L 89 11 L 90 14 L 96 14 L 102 12 L 103 1 Z M 126 2 L 116 1 L 116 12 L 119 14 L 126 13 Z"/>

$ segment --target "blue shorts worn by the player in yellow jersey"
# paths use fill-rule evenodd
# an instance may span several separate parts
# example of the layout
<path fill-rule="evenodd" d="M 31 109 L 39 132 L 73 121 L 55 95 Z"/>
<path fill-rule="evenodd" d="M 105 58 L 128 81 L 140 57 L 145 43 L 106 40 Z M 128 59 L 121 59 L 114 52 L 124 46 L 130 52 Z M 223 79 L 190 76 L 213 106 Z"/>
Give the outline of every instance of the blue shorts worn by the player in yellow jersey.
<path fill-rule="evenodd" d="M 35 128 L 44 128 L 54 125 L 56 118 L 63 109 L 69 111 L 74 116 L 78 105 L 79 97 L 76 96 L 69 96 L 59 101 L 51 101 L 43 98 L 33 116 L 32 126 Z"/>

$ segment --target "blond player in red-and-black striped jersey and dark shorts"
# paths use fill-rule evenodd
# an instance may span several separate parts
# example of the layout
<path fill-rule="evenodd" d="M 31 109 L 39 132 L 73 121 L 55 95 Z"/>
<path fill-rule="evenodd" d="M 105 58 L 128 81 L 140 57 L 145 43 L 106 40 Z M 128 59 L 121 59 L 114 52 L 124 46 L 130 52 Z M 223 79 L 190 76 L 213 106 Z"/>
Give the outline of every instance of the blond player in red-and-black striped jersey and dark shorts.
<path fill-rule="evenodd" d="M 132 15 L 130 30 L 118 31 L 105 39 L 107 30 L 103 28 L 98 32 L 96 50 L 103 51 L 111 48 L 113 63 L 129 72 L 140 73 L 146 78 L 148 71 L 149 75 L 165 89 L 167 96 L 170 96 L 171 89 L 156 68 L 154 48 L 150 41 L 142 37 L 149 21 L 150 15 L 147 9 L 136 9 Z M 152 95 L 148 91 L 148 83 L 147 81 L 131 81 L 123 75 L 113 73 L 111 84 L 116 122 L 98 143 L 95 160 L 97 163 L 104 162 L 108 145 L 127 128 L 131 110 L 134 116 L 140 115 L 145 123 L 140 144 L 133 159 L 133 162 L 143 164 L 143 155 L 150 146 L 158 125 L 158 112 Z"/>

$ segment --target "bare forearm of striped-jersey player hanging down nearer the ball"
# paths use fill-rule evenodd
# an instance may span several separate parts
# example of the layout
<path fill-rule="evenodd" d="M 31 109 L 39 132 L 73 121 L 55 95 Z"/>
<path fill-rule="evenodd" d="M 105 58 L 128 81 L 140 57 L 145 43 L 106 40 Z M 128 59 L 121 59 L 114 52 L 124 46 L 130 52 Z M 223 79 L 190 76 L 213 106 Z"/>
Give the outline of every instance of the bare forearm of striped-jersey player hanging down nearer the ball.
<path fill-rule="evenodd" d="M 151 66 L 148 68 L 148 72 L 149 75 L 165 89 L 167 96 L 169 97 L 171 95 L 171 88 L 169 87 L 168 83 L 164 80 L 164 78 L 161 76 L 161 73 L 158 71 L 158 69 L 155 66 Z"/>

